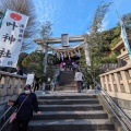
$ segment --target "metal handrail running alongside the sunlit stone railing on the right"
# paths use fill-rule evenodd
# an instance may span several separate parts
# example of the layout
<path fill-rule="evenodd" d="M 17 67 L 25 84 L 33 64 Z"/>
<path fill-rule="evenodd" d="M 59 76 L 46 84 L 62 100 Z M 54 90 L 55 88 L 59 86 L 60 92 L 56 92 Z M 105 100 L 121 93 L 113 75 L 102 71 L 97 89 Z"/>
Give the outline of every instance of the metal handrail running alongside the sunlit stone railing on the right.
<path fill-rule="evenodd" d="M 88 72 L 90 73 L 90 72 Z M 100 91 L 100 93 L 105 93 L 105 95 L 108 97 L 108 99 L 114 104 L 114 106 L 120 111 L 120 114 L 121 114 L 121 116 L 128 121 L 128 123 L 129 124 L 131 124 L 131 120 L 126 116 L 126 114 L 122 111 L 122 109 L 121 108 L 119 108 L 119 106 L 112 100 L 112 98 L 109 96 L 109 94 L 104 90 L 104 87 L 102 87 L 102 85 L 98 83 L 98 82 L 96 82 L 95 81 L 95 79 L 93 78 L 93 75 L 90 73 L 90 75 L 92 76 L 92 79 L 93 79 L 93 82 L 95 83 L 95 84 L 97 84 L 97 86 L 103 91 Z M 97 90 L 97 88 L 96 88 Z M 107 104 L 109 104 L 109 102 L 106 99 L 106 103 Z M 111 106 L 110 106 L 111 107 Z M 112 107 L 111 107 L 111 110 L 114 110 L 112 109 Z M 115 112 L 115 110 L 114 110 L 114 112 Z M 116 112 L 115 112 L 115 115 L 117 115 Z M 120 121 L 120 123 L 121 123 L 121 120 L 120 120 L 120 118 L 118 117 L 118 115 L 116 116 L 117 118 L 118 118 L 118 120 Z M 122 121 L 122 126 L 123 126 L 123 121 Z M 123 126 L 123 127 L 126 127 L 126 126 Z M 127 131 L 129 131 L 128 129 L 127 129 Z"/>

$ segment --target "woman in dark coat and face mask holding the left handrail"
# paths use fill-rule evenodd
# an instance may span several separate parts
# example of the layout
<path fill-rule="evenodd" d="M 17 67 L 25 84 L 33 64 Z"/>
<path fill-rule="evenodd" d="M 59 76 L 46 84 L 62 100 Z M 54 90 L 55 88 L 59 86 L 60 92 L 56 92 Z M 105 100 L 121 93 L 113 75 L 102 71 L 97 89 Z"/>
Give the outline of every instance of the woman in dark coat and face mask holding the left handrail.
<path fill-rule="evenodd" d="M 24 103 L 23 103 L 23 100 L 24 100 Z M 23 105 L 21 106 L 22 103 L 23 103 Z M 24 93 L 20 94 L 20 96 L 17 97 L 17 99 L 14 103 L 12 103 L 10 100 L 9 105 L 17 106 L 17 109 L 21 106 L 21 108 L 16 115 L 16 119 L 12 123 L 11 131 L 26 131 L 28 122 L 33 116 L 33 110 L 35 110 L 38 115 L 41 114 L 38 109 L 36 95 L 35 95 L 35 93 L 31 92 L 29 84 L 27 84 L 24 87 Z"/>

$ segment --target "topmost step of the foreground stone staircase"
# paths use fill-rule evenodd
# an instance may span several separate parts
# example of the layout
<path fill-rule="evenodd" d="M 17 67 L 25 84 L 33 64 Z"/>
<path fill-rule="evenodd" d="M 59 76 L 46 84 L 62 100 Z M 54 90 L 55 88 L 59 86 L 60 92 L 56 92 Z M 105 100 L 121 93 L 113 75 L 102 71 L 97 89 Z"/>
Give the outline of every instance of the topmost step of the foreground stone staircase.
<path fill-rule="evenodd" d="M 96 98 L 96 95 L 47 95 L 47 96 L 38 96 L 38 99 L 87 99 L 87 98 Z"/>

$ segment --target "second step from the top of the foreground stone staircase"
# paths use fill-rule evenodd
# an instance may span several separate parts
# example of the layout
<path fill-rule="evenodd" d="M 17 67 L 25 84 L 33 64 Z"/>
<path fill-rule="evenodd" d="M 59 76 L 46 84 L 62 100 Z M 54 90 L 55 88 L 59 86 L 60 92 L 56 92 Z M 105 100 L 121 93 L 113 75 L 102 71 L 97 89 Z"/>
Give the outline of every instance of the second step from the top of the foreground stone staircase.
<path fill-rule="evenodd" d="M 73 104 L 98 104 L 96 98 L 87 99 L 38 99 L 39 105 L 73 105 Z"/>

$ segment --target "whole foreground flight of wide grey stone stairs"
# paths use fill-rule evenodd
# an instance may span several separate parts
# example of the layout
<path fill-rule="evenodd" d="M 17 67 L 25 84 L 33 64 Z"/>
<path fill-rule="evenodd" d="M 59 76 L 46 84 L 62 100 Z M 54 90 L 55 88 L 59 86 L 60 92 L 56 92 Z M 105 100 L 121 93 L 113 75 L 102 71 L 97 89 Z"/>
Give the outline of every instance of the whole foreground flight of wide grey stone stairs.
<path fill-rule="evenodd" d="M 49 94 L 38 104 L 43 115 L 34 114 L 28 131 L 115 131 L 97 95 Z"/>

